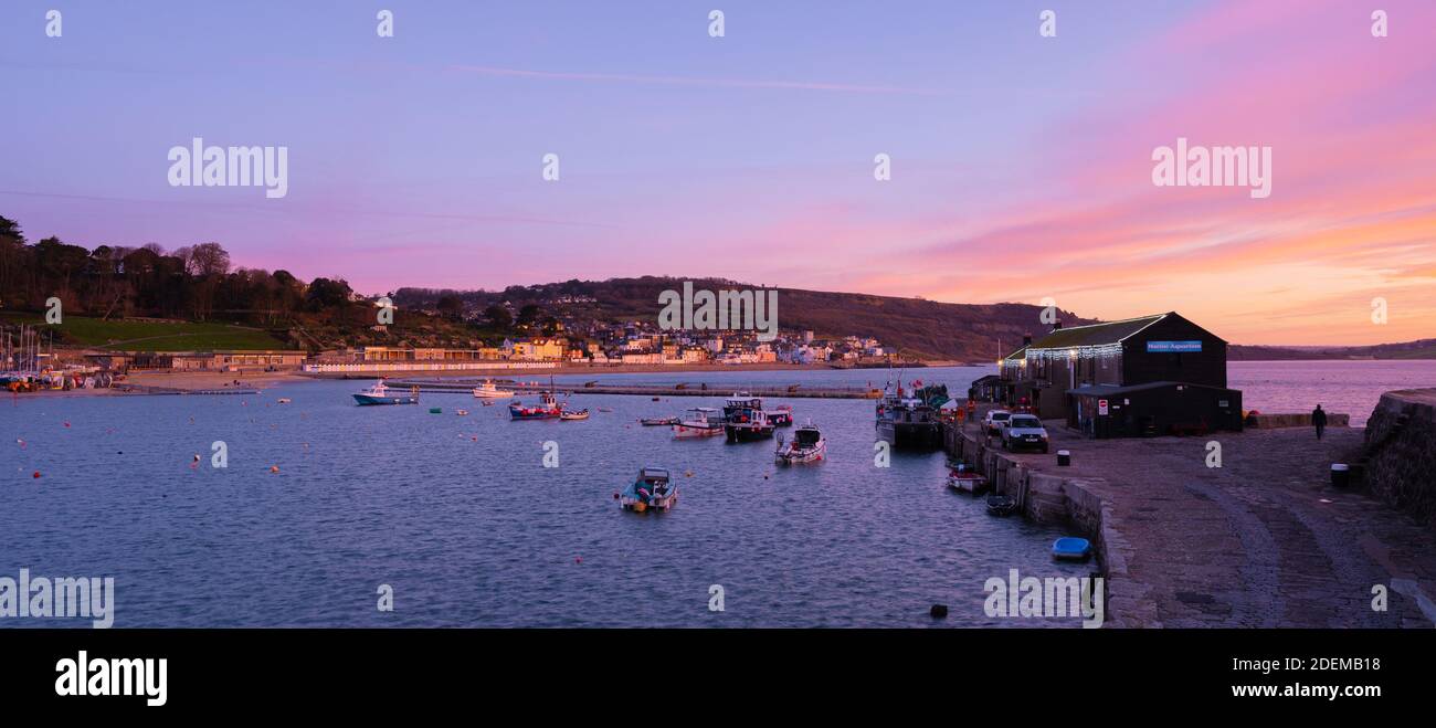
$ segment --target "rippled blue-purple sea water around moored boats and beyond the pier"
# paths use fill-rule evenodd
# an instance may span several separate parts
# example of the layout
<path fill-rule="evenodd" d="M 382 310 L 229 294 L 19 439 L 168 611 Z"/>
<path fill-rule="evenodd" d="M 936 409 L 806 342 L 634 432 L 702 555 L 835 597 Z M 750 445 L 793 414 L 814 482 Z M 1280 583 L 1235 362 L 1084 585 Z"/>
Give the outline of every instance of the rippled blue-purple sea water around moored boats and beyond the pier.
<path fill-rule="evenodd" d="M 988 370 L 909 378 L 965 392 Z M 1234 363 L 1231 373 L 1248 406 L 1321 401 L 1364 421 L 1383 389 L 1436 383 L 1436 362 Z M 873 467 L 872 402 L 773 401 L 829 439 L 827 462 L 797 468 L 773 464 L 773 442 L 673 441 L 636 424 L 721 405 L 744 385 L 886 376 L 609 375 L 708 382 L 715 396 L 577 395 L 574 406 L 595 411 L 586 422 L 510 422 L 503 405 L 467 395 L 359 408 L 349 393 L 362 382 L 17 398 L 0 406 L 0 576 L 112 576 L 116 626 L 1035 625 L 987 617 L 984 582 L 1091 566 L 1050 559 L 1061 528 L 992 518 L 981 500 L 948 493 L 941 454 Z M 214 441 L 227 445 L 225 470 L 210 467 Z M 546 441 L 559 444 L 559 468 L 543 467 Z M 613 493 L 640 465 L 675 474 L 672 513 L 619 511 Z M 381 583 L 395 590 L 392 613 L 375 607 Z M 721 613 L 708 609 L 711 584 L 724 587 Z M 931 619 L 932 603 L 951 616 Z M 88 620 L 0 620 L 60 625 Z"/>

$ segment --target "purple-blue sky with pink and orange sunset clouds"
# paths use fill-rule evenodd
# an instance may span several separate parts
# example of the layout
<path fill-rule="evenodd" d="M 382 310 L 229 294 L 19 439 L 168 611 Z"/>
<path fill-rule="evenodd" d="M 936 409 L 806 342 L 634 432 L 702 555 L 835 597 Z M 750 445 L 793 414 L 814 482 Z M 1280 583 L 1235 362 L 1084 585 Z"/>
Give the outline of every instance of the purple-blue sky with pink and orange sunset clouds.
<path fill-rule="evenodd" d="M 214 240 L 366 293 L 721 276 L 1436 336 L 1430 0 L 7 1 L 0 88 L 32 241 Z M 289 146 L 287 197 L 169 187 L 194 136 Z M 1155 187 L 1179 136 L 1269 145 L 1271 197 Z"/>

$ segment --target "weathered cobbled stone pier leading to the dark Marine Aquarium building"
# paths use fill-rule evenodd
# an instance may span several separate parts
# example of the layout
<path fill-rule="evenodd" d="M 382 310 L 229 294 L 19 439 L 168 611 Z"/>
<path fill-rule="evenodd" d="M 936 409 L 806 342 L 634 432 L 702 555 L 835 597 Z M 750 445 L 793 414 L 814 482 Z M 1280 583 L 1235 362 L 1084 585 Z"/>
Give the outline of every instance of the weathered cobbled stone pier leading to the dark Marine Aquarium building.
<path fill-rule="evenodd" d="M 1361 429 L 1094 441 L 1045 425 L 1045 455 L 1005 452 L 975 425 L 948 428 L 948 452 L 1017 497 L 1024 517 L 1093 541 L 1109 625 L 1433 626 L 1420 605 L 1436 594 L 1436 531 L 1331 484 L 1330 465 L 1361 451 Z"/>

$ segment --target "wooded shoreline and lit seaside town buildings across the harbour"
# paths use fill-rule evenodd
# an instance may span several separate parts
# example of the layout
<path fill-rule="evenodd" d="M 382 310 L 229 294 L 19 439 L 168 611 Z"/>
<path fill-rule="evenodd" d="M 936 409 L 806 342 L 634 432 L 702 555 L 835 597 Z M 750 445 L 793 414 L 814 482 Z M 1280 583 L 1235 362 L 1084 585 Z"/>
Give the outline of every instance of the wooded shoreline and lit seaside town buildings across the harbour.
<path fill-rule="evenodd" d="M 671 330 L 659 326 L 656 300 L 648 303 L 652 314 L 625 319 L 592 294 L 547 287 L 516 287 L 513 299 L 475 291 L 467 302 L 408 290 L 366 296 L 342 279 L 304 283 L 286 271 L 233 269 L 214 243 L 172 251 L 88 250 L 56 238 L 27 244 L 4 218 L 0 263 L 0 279 L 10 283 L 0 300 L 0 372 L 17 392 L 106 388 L 131 373 L 162 372 L 244 378 L 900 360 L 870 335 Z M 22 270 L 34 274 L 20 277 Z M 569 290 L 583 287 L 573 281 Z"/>

